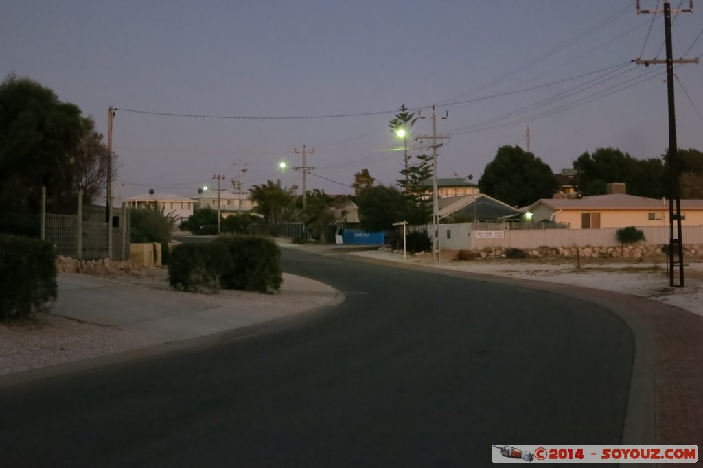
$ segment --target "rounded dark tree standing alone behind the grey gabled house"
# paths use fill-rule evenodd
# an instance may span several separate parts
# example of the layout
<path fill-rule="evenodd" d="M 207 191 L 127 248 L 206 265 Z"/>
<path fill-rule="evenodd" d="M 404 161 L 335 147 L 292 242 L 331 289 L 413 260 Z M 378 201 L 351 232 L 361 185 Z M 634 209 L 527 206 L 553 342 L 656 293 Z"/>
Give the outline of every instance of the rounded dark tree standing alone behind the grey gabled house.
<path fill-rule="evenodd" d="M 524 207 L 540 198 L 551 198 L 558 182 L 552 169 L 520 146 L 501 146 L 484 169 L 479 190 L 514 207 Z"/>

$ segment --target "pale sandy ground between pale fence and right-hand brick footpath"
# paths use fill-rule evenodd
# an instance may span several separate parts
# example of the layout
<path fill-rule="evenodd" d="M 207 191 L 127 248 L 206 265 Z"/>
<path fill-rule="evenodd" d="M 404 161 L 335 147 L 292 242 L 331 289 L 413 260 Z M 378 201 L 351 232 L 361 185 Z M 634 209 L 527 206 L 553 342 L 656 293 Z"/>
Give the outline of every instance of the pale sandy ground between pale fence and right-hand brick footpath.
<path fill-rule="evenodd" d="M 669 273 L 667 273 L 664 260 L 659 263 L 651 263 L 582 259 L 581 268 L 576 268 L 575 261 L 562 259 L 458 261 L 456 260 L 457 252 L 452 251 L 443 251 L 439 263 L 433 263 L 432 256 L 429 254 L 408 255 L 404 260 L 402 253 L 382 250 L 349 253 L 385 261 L 423 264 L 447 270 L 560 282 L 598 290 L 622 292 L 665 302 L 703 316 L 703 263 L 684 264 L 685 287 L 670 287 Z M 678 282 L 678 271 L 675 270 L 674 273 L 674 278 Z"/>

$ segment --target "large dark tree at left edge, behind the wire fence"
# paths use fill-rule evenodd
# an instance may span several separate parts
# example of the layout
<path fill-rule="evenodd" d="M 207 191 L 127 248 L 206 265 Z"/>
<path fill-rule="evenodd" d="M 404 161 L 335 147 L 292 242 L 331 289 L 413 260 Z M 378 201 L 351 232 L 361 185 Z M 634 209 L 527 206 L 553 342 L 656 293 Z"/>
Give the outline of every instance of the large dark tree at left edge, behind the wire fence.
<path fill-rule="evenodd" d="M 79 108 L 51 89 L 13 74 L 0 84 L 0 232 L 39 233 L 41 186 L 50 212 L 75 207 L 68 155 L 82 131 Z"/>

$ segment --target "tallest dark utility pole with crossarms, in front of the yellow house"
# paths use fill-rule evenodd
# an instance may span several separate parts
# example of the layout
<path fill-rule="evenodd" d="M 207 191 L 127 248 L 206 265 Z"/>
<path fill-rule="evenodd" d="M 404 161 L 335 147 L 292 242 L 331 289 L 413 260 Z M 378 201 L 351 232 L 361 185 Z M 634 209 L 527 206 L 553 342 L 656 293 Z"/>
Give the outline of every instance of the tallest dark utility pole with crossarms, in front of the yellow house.
<path fill-rule="evenodd" d="M 674 11 L 675 13 L 692 13 L 693 0 L 689 0 L 688 8 Z M 678 143 L 676 142 L 676 109 L 673 96 L 673 64 L 698 63 L 698 58 L 673 58 L 673 40 L 671 32 L 671 4 L 664 0 L 663 10 L 642 10 L 640 0 L 637 1 L 637 13 L 664 13 L 664 38 L 666 41 L 666 60 L 654 58 L 635 59 L 635 63 L 648 67 L 651 64 L 666 64 L 666 91 L 669 100 L 669 286 L 684 286 L 683 280 L 683 239 L 681 236 L 681 190 L 679 186 Z M 676 206 L 676 207 L 675 207 Z M 674 235 L 676 221 L 676 235 Z M 674 267 L 678 266 L 678 285 L 674 281 Z"/>

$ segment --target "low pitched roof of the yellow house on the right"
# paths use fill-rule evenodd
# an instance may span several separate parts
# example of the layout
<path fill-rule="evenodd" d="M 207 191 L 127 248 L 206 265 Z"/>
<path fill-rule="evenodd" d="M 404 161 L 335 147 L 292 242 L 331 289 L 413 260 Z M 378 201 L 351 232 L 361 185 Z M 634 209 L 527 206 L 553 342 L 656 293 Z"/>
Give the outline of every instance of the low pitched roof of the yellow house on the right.
<path fill-rule="evenodd" d="M 638 197 L 625 193 L 590 195 L 583 198 L 541 198 L 530 205 L 534 209 L 543 204 L 550 209 L 669 209 L 669 200 Z M 681 209 L 703 209 L 703 200 L 681 200 Z"/>

